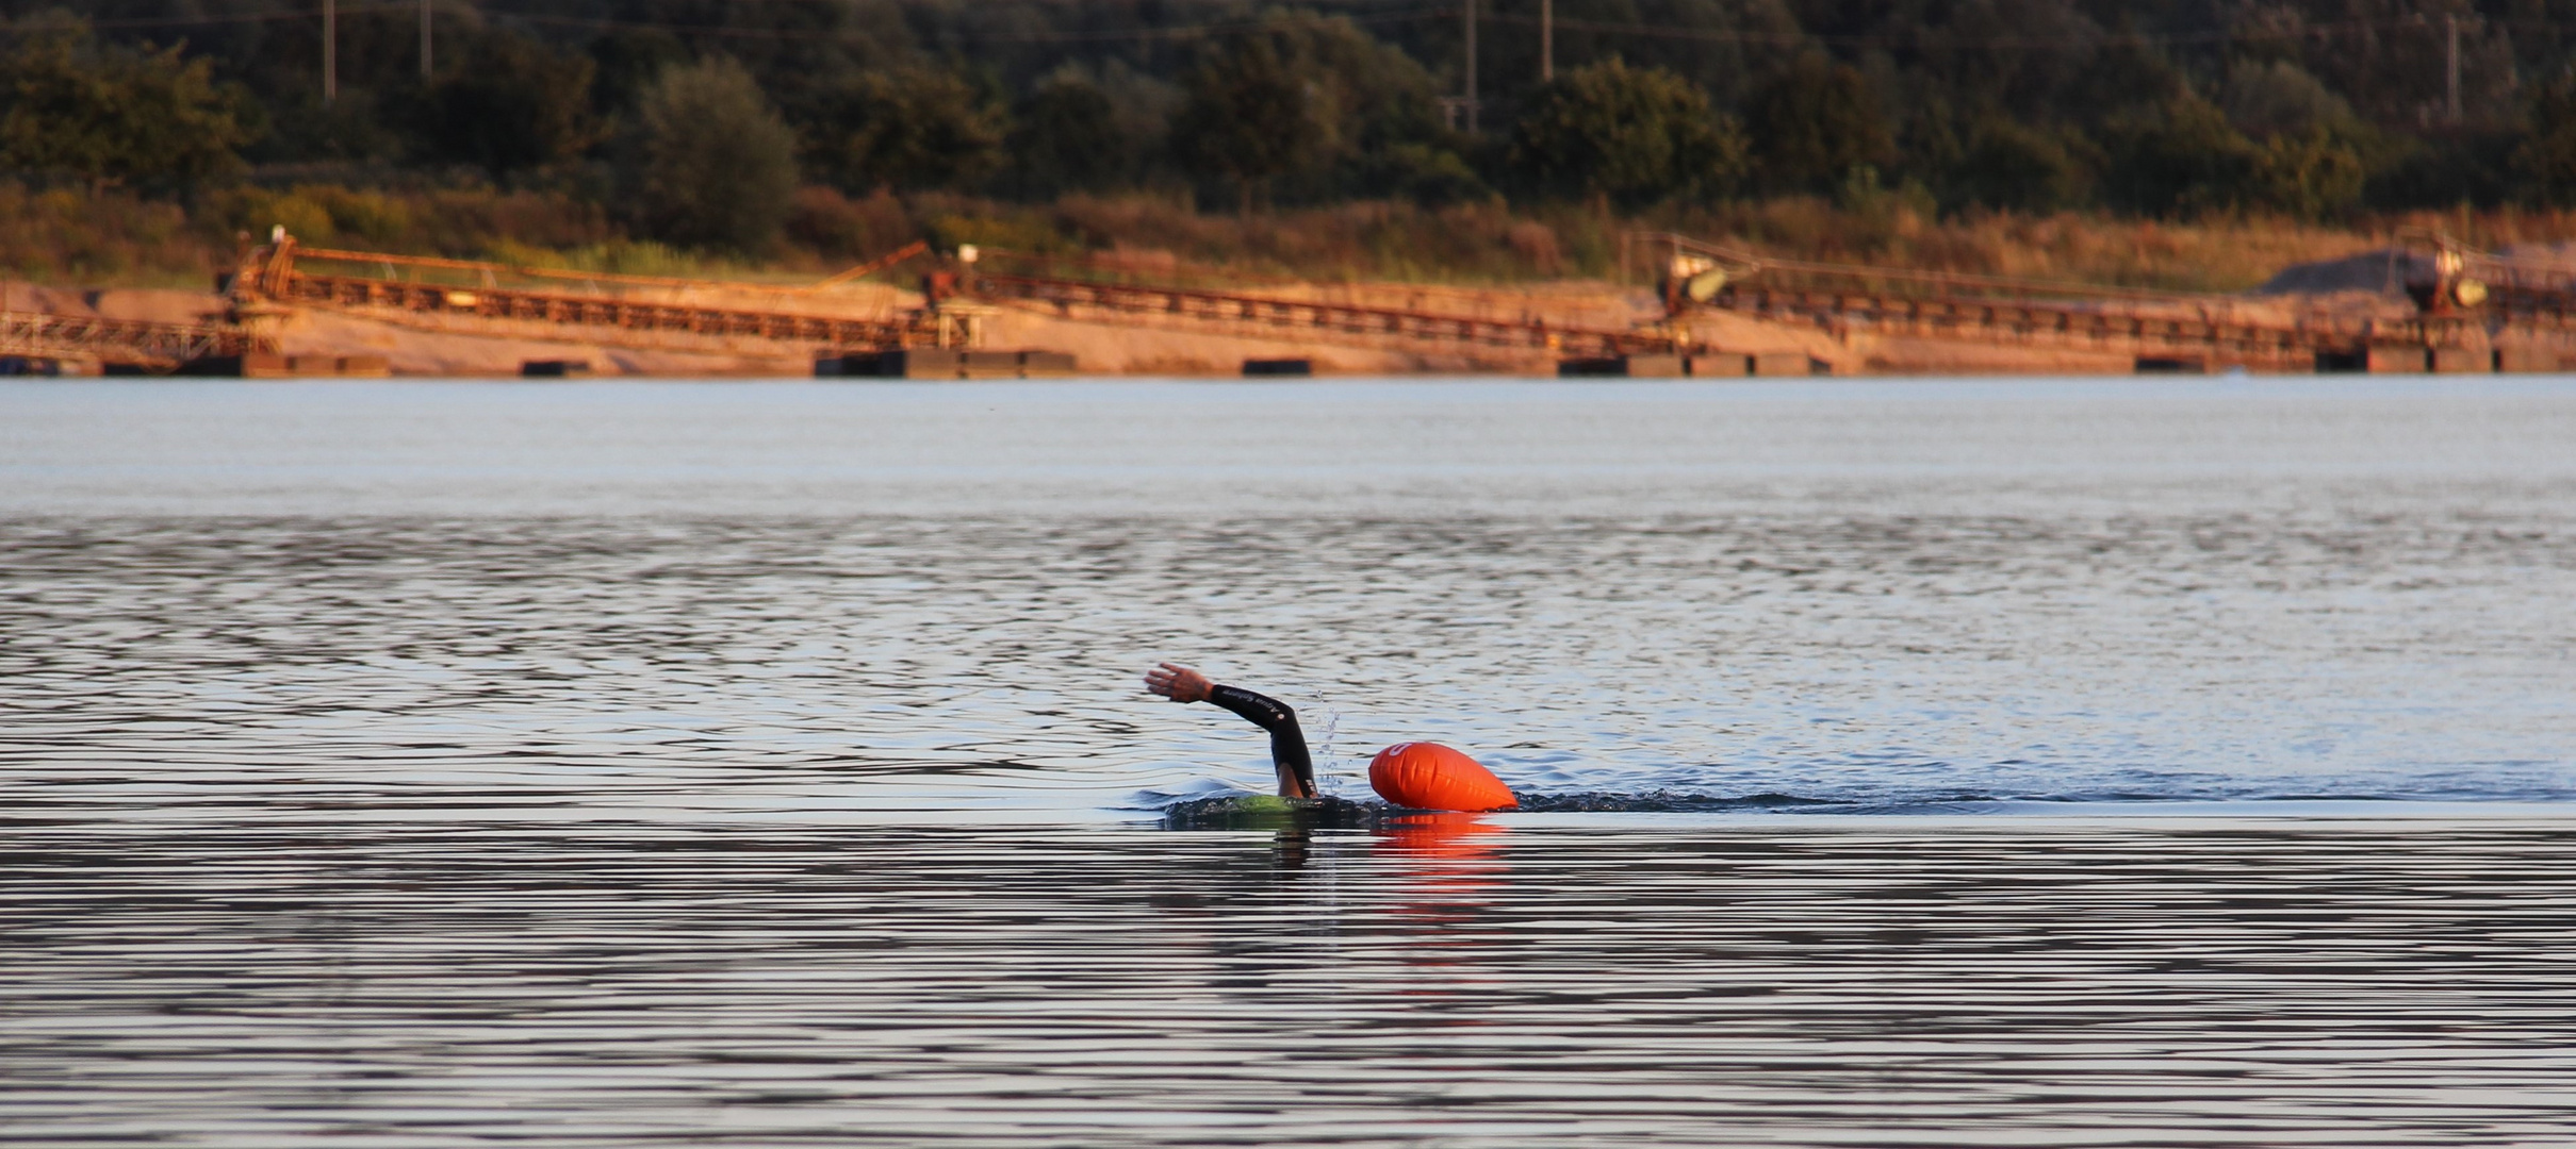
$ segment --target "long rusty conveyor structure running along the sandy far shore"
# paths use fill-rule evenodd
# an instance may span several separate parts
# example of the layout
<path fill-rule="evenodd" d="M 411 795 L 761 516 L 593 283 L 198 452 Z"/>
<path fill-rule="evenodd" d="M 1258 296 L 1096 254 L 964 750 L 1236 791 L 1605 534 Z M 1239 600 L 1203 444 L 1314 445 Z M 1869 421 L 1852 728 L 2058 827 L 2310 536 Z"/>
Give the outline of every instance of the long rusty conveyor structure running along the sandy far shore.
<path fill-rule="evenodd" d="M 2084 350 L 2133 356 L 2141 368 L 2172 366 L 2251 366 L 2262 371 L 2378 368 L 2380 353 L 2432 353 L 2450 348 L 2486 356 L 2499 322 L 2576 332 L 2576 263 L 2527 276 L 2494 276 L 2499 283 L 2486 307 L 2460 294 L 2463 258 L 2437 260 L 2447 278 L 2419 299 L 2411 317 L 2339 317 L 2321 309 L 2254 304 L 2241 296 L 2141 291 L 2097 283 L 2032 281 L 2007 276 L 1935 273 L 1873 265 L 1772 260 L 1667 232 L 1633 232 L 1631 247 L 1646 245 L 1664 260 L 1662 322 L 1628 330 L 1551 325 L 1543 317 L 1443 314 L 1401 307 L 1340 304 L 1244 294 L 1200 286 L 1133 283 L 1118 276 L 1066 278 L 951 263 L 925 278 L 927 304 L 917 312 L 845 317 L 817 314 L 811 301 L 822 289 L 878 271 L 891 260 L 917 255 L 904 247 L 886 260 L 855 268 L 811 286 L 768 286 L 783 301 L 806 307 L 701 307 L 672 299 L 647 299 L 618 289 L 744 289 L 744 283 L 706 283 L 654 276 L 608 276 L 562 268 L 505 268 L 497 263 L 438 260 L 415 255 L 376 255 L 348 250 L 299 250 L 291 237 L 247 252 L 232 281 L 237 314 L 252 314 L 260 301 L 332 307 L 392 317 L 510 319 L 533 327 L 562 327 L 564 335 L 647 345 L 644 340 L 760 340 L 773 348 L 796 345 L 817 353 L 860 348 L 951 348 L 974 345 L 979 304 L 1038 304 L 1069 319 L 1113 325 L 1190 325 L 1260 337 L 1321 343 L 1412 343 L 1450 348 L 1540 350 L 1564 358 L 1592 356 L 1690 356 L 1710 348 L 1692 332 L 1695 309 L 1718 309 L 1770 322 L 1826 330 L 1837 337 L 1891 335 L 1963 340 L 1984 345 Z M 317 273 L 301 260 L 335 271 Z M 971 252 L 961 252 L 971 260 Z M 2494 258 L 2488 258 L 2494 263 Z M 368 276 L 366 268 L 379 273 Z M 456 276 L 474 281 L 453 281 Z M 448 283 L 433 281 L 451 278 Z M 582 281 L 590 291 L 567 286 L 502 286 L 502 276 Z M 2481 286 L 2481 291 L 2486 291 Z M 523 330 L 526 332 L 526 330 Z M 211 337 L 198 332 L 198 337 Z M 242 335 L 247 337 L 247 335 Z M 2445 350 L 2445 353 L 2450 353 Z M 214 353 L 224 353 L 222 348 Z M 180 358 L 175 353 L 160 361 Z M 2403 356 L 2398 356 L 2403 361 Z"/>

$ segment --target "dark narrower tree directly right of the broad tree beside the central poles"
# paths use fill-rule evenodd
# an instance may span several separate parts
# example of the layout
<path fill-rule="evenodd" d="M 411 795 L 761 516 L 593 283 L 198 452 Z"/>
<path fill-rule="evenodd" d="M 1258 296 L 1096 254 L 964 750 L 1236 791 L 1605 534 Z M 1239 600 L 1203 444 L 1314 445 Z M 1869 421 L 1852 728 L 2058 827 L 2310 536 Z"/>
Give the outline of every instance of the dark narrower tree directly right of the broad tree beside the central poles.
<path fill-rule="evenodd" d="M 1747 121 L 1754 173 L 1772 191 L 1834 188 L 1852 167 L 1883 167 L 1896 157 L 1870 80 L 1816 54 L 1762 85 Z"/>

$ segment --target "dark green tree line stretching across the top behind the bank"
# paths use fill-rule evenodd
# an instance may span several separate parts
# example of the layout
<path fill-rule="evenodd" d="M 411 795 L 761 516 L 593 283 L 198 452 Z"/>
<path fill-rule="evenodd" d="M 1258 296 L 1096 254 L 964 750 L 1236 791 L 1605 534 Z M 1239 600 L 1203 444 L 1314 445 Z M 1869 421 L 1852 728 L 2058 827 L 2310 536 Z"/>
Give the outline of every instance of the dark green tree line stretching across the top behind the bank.
<path fill-rule="evenodd" d="M 2576 0 L 0 0 L 0 165 L 185 198 L 489 183 L 757 252 L 799 185 L 1211 209 L 2339 219 L 2576 198 Z M 1543 77 L 1543 72 L 1548 72 Z M 1471 129 L 1473 126 L 1473 129 Z"/>

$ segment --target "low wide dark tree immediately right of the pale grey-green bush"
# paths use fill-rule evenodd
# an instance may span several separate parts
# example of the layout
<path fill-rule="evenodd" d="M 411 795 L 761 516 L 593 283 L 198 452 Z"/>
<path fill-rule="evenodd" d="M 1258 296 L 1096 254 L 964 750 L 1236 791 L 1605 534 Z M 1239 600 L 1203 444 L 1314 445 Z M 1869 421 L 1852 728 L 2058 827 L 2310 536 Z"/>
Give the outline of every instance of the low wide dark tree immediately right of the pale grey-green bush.
<path fill-rule="evenodd" d="M 956 72 L 860 72 L 806 121 L 806 162 L 842 191 L 961 188 L 1002 167 L 1007 116 Z"/>

